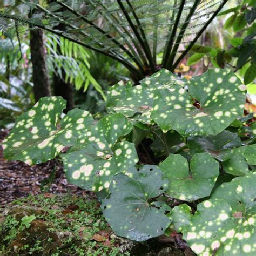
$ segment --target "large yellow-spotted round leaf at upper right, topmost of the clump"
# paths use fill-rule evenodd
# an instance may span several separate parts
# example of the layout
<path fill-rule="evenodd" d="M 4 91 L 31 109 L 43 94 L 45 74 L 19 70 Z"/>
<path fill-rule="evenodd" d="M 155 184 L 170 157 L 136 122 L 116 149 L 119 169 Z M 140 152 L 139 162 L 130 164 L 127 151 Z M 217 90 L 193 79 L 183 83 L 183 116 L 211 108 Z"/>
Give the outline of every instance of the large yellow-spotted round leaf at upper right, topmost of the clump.
<path fill-rule="evenodd" d="M 218 134 L 242 116 L 245 95 L 240 80 L 222 69 L 194 77 L 188 92 L 179 85 L 155 92 L 152 119 L 163 131 L 176 130 L 183 136 Z M 191 102 L 196 100 L 197 107 Z"/>

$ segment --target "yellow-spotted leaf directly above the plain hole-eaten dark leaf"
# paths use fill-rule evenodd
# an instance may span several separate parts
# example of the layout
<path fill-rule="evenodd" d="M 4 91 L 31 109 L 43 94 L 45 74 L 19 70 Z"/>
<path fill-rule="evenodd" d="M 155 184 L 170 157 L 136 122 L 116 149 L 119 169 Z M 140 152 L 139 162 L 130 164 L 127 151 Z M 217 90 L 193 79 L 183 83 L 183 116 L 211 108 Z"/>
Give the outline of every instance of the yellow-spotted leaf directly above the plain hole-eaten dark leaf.
<path fill-rule="evenodd" d="M 70 183 L 100 191 L 109 187 L 114 174 L 134 166 L 138 161 L 134 144 L 119 142 L 131 130 L 132 124 L 122 114 L 100 119 L 70 152 L 62 155 Z"/>

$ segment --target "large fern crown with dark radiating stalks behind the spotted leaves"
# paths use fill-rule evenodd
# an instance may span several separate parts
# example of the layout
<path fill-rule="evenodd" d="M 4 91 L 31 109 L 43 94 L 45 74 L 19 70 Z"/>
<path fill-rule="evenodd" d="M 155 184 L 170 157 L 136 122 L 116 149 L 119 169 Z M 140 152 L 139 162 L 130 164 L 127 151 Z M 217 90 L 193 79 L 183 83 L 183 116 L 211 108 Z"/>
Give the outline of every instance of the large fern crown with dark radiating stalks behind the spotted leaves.
<path fill-rule="evenodd" d="M 31 18 L 14 7 L 12 12 L 6 8 L 0 17 L 39 26 L 110 56 L 142 78 L 155 72 L 158 65 L 174 70 L 227 0 L 19 2 L 36 9 Z M 64 31 L 54 29 L 59 23 Z M 161 51 L 163 60 L 157 63 Z"/>

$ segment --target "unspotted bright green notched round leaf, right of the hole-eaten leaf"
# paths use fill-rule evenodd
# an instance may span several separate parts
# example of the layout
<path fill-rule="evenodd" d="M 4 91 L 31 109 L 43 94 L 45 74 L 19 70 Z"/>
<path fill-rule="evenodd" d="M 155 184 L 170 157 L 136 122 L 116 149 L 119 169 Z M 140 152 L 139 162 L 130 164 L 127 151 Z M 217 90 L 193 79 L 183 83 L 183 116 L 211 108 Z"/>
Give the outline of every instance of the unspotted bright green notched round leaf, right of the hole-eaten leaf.
<path fill-rule="evenodd" d="M 170 154 L 159 167 L 169 179 L 170 197 L 185 201 L 210 196 L 219 174 L 219 163 L 207 153 L 195 154 L 190 168 L 180 154 Z"/>

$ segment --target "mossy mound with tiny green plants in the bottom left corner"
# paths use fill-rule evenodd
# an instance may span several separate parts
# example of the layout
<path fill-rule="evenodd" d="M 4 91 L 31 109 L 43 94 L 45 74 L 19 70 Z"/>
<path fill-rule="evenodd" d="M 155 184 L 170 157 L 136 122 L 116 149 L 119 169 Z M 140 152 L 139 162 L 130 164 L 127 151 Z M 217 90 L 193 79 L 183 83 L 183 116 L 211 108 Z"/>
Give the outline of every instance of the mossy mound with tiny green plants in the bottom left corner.
<path fill-rule="evenodd" d="M 120 252 L 91 197 L 46 193 L 18 199 L 2 211 L 0 222 L 0 255 L 129 255 Z"/>

